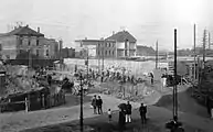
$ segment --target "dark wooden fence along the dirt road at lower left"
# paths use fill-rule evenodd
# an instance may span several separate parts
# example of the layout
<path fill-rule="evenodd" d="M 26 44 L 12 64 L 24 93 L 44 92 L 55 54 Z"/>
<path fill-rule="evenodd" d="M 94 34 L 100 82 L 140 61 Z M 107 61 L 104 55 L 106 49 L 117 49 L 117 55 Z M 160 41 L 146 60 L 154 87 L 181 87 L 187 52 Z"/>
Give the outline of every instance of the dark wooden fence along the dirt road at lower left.
<path fill-rule="evenodd" d="M 0 103 L 0 112 L 7 111 L 20 111 L 25 110 L 33 111 L 33 110 L 41 110 L 47 109 L 56 106 L 61 106 L 65 103 L 65 92 L 58 92 L 54 95 L 41 95 L 40 97 L 28 97 L 25 100 L 22 101 L 13 101 L 11 102 L 10 99 L 7 102 Z"/>

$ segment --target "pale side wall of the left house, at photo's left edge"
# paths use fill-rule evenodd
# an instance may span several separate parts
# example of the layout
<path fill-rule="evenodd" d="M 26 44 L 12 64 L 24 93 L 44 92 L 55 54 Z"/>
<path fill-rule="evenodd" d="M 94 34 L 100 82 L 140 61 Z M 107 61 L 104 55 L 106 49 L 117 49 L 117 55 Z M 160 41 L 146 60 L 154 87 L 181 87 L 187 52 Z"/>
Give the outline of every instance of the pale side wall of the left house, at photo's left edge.
<path fill-rule="evenodd" d="M 0 36 L 1 51 L 3 59 L 14 59 L 17 57 L 17 36 Z"/>

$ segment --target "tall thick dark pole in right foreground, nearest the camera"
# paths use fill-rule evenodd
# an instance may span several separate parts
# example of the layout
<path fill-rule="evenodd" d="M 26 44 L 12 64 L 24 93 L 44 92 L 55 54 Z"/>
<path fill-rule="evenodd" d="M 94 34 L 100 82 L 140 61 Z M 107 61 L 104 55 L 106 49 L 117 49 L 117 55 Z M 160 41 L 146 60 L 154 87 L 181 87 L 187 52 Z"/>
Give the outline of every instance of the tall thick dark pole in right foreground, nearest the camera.
<path fill-rule="evenodd" d="M 174 29 L 174 86 L 173 86 L 173 119 L 178 121 L 178 91 L 177 91 L 177 29 Z"/>

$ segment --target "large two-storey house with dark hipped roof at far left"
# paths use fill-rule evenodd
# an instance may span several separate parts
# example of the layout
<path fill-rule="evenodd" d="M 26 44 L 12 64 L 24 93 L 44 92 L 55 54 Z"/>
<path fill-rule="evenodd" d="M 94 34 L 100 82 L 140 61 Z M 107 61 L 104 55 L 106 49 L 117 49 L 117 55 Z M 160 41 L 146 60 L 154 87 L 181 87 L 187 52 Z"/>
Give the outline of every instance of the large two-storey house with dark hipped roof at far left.
<path fill-rule="evenodd" d="M 40 33 L 40 28 L 34 31 L 29 25 L 15 28 L 0 35 L 0 55 L 6 59 L 15 59 L 22 52 L 52 58 L 57 54 L 56 45 L 56 41 L 45 38 L 44 34 Z"/>

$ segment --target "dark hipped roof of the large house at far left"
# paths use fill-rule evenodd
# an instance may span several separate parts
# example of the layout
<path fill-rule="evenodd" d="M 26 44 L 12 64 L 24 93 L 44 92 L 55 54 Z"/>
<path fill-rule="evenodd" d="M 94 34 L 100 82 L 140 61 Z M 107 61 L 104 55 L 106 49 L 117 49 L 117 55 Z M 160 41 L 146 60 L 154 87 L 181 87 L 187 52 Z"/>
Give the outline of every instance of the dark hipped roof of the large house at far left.
<path fill-rule="evenodd" d="M 44 34 L 39 33 L 32 29 L 26 26 L 19 26 L 18 29 L 14 29 L 13 31 L 9 33 L 1 34 L 1 36 L 8 36 L 8 35 L 31 35 L 31 36 L 44 36 Z"/>

